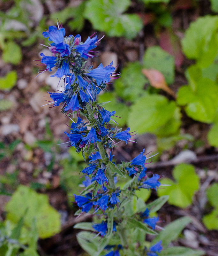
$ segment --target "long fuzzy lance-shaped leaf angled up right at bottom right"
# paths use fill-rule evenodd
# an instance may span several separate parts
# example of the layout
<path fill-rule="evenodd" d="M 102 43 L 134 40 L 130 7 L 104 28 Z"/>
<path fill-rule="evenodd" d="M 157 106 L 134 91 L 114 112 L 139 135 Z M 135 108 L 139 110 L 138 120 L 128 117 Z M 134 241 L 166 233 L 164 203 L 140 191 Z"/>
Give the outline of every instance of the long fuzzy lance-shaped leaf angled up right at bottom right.
<path fill-rule="evenodd" d="M 184 227 L 192 222 L 190 217 L 182 217 L 169 223 L 152 241 L 152 244 L 156 244 L 160 240 L 162 241 L 163 247 L 168 247 L 168 244 L 177 239 L 179 234 L 182 232 Z M 173 247 L 174 248 L 174 247 Z"/>

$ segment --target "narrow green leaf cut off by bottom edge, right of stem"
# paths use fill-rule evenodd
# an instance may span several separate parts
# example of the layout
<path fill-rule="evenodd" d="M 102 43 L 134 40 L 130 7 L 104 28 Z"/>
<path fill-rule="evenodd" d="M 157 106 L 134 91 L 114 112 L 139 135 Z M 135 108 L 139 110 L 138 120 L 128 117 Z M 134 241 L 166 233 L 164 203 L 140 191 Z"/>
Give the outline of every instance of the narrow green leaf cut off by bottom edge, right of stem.
<path fill-rule="evenodd" d="M 187 247 L 175 246 L 162 250 L 160 256 L 201 256 L 205 252 L 202 250 L 192 250 Z"/>

